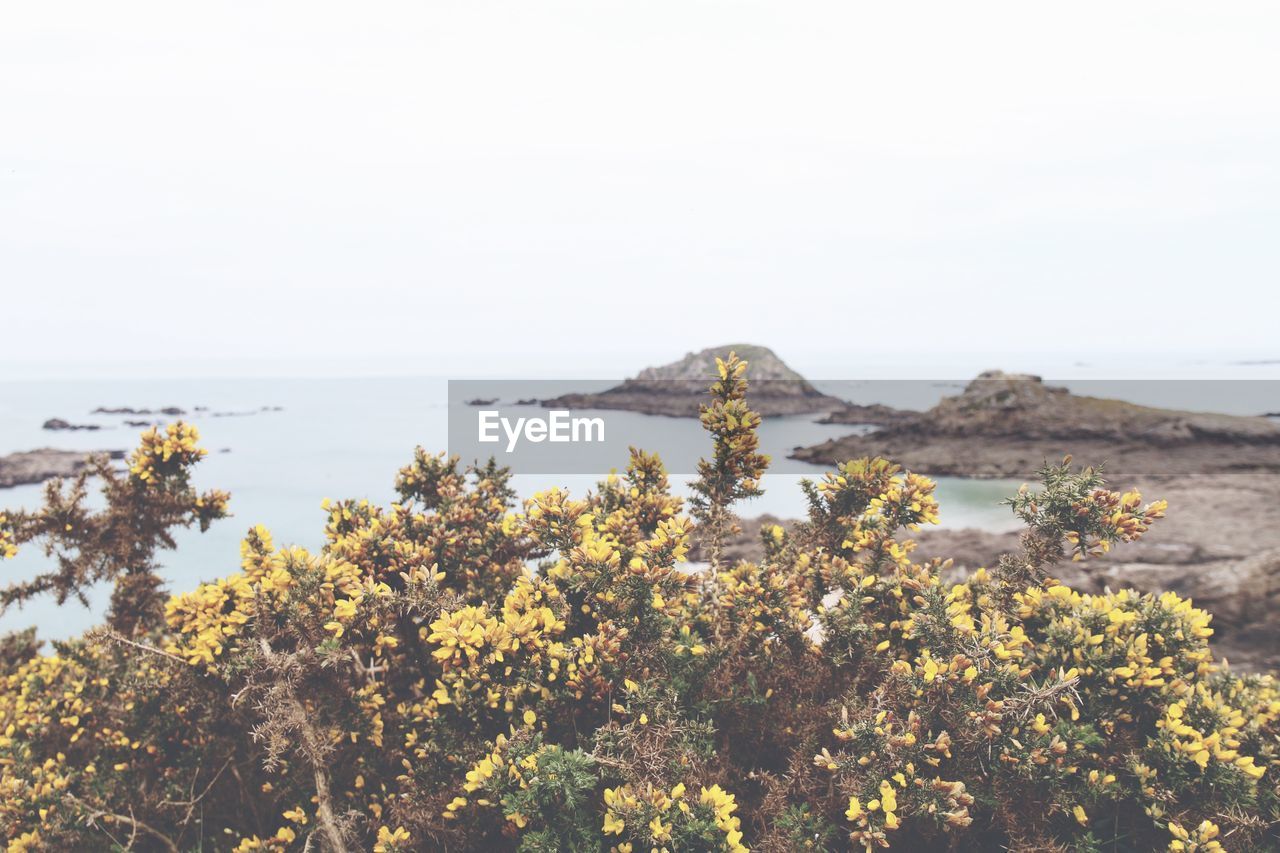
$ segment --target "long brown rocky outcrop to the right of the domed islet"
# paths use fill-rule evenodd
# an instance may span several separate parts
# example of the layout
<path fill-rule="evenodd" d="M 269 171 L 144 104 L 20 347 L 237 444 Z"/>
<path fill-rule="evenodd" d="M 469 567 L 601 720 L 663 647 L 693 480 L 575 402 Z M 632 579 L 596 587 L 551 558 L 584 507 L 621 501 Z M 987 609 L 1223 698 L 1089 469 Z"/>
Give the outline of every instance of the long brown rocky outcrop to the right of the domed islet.
<path fill-rule="evenodd" d="M 974 478 L 1027 476 L 1066 453 L 1106 461 L 1112 475 L 1280 471 L 1280 425 L 1266 418 L 1075 396 L 1027 374 L 989 370 L 963 393 L 905 415 L 792 457 L 829 465 L 886 456 L 925 474 Z"/>

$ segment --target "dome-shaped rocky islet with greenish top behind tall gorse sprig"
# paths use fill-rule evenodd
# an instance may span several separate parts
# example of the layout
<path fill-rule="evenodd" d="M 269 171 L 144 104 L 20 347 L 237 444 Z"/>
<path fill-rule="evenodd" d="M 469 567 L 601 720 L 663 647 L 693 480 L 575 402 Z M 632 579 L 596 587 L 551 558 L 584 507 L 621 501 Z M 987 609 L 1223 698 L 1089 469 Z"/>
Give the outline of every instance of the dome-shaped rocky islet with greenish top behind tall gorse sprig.
<path fill-rule="evenodd" d="M 716 380 L 716 359 L 730 352 L 748 362 L 751 383 L 748 400 L 765 418 L 842 410 L 847 403 L 822 393 L 788 368 L 768 347 L 735 343 L 690 352 L 660 368 L 645 368 L 621 386 L 594 394 L 564 394 L 543 400 L 548 409 L 622 409 L 646 415 L 696 418 L 707 402 L 707 388 Z"/>

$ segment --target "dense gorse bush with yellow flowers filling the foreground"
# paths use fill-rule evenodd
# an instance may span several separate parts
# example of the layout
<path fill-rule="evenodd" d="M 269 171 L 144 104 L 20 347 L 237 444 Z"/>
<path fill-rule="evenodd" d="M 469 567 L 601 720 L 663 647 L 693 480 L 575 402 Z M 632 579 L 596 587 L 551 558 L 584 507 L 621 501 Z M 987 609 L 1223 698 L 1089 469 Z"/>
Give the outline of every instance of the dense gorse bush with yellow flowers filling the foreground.
<path fill-rule="evenodd" d="M 419 451 L 390 507 L 326 505 L 317 553 L 253 528 L 239 571 L 165 601 L 156 549 L 227 506 L 189 487 L 182 425 L 6 514 L 0 553 L 58 562 L 6 603 L 116 589 L 52 653 L 0 644 L 9 849 L 1280 845 L 1271 678 L 1215 663 L 1210 616 L 1171 593 L 1047 574 L 1164 503 L 1068 460 L 1011 500 L 1020 551 L 948 583 L 908 538 L 933 483 L 860 459 L 805 485 L 759 565 L 727 564 L 768 464 L 744 374 L 723 362 L 703 415 L 696 525 L 637 450 L 522 511 L 503 469 Z"/>

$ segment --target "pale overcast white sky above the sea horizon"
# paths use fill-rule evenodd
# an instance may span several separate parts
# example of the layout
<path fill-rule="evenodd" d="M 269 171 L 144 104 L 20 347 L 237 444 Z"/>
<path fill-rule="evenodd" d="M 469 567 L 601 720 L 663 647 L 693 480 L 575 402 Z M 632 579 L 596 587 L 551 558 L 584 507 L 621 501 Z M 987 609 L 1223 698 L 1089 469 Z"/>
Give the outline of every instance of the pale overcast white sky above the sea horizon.
<path fill-rule="evenodd" d="M 8 3 L 0 378 L 1280 357 L 1277 44 L 1275 3 Z"/>

